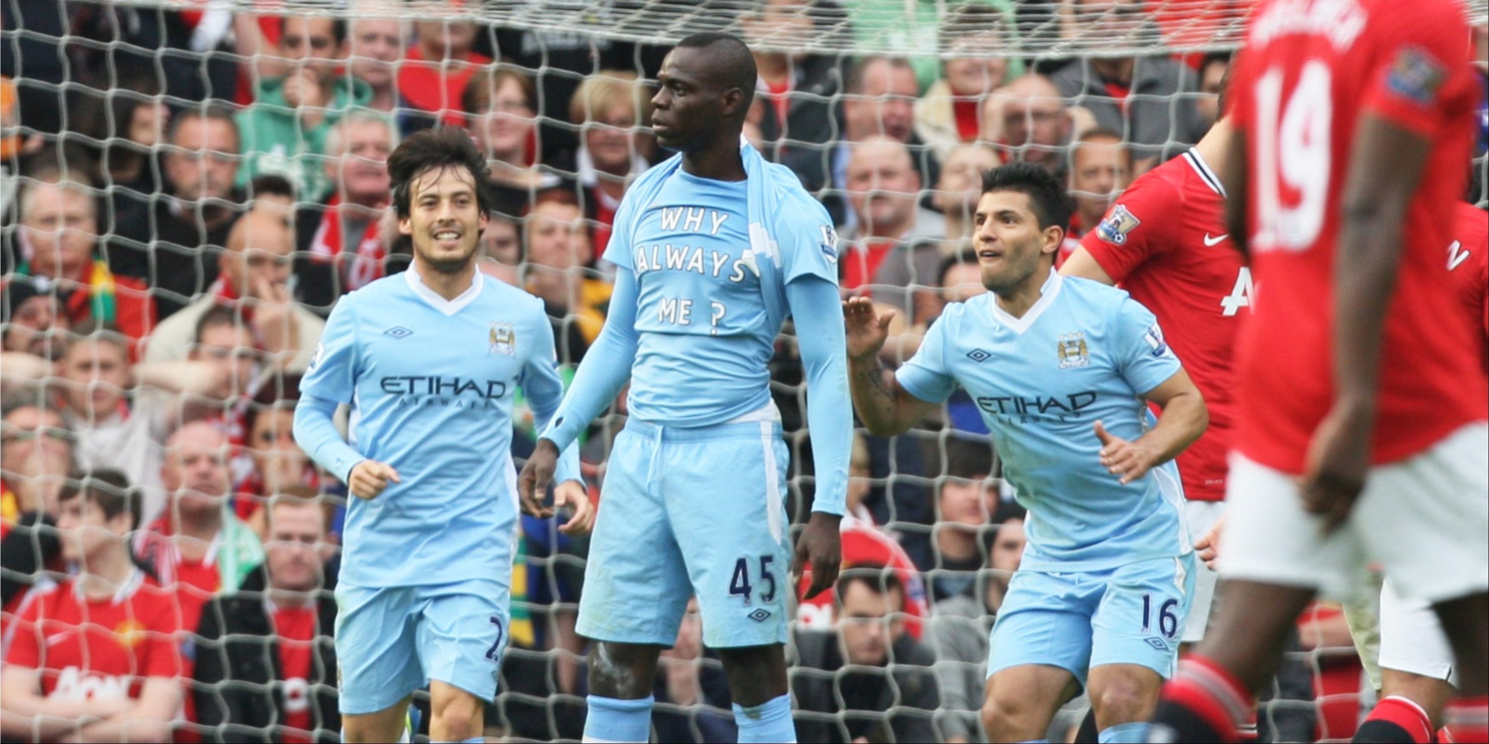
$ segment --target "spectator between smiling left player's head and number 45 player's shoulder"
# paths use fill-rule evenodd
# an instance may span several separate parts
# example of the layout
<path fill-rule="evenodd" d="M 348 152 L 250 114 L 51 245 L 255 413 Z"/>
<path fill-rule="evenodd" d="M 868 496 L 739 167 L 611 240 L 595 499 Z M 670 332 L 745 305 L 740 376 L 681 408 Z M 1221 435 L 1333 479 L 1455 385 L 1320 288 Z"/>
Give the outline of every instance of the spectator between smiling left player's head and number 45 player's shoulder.
<path fill-rule="evenodd" d="M 538 196 L 523 229 L 527 241 L 526 286 L 543 301 L 554 324 L 561 363 L 578 363 L 605 327 L 610 283 L 591 278 L 585 266 L 594 246 L 572 193 L 555 189 Z"/>

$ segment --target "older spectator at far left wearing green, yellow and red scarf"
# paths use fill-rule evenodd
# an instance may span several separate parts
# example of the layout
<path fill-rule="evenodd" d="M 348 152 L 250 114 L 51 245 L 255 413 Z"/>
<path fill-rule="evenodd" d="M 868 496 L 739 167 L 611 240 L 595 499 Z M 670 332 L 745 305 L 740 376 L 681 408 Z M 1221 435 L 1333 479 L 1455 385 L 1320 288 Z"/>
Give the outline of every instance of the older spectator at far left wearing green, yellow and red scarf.
<path fill-rule="evenodd" d="M 155 326 L 155 302 L 138 280 L 116 277 L 97 254 L 98 204 L 94 182 L 80 170 L 52 164 L 27 174 L 33 179 L 19 198 L 21 262 L 15 272 L 45 277 L 67 293 L 63 311 L 73 327 L 118 330 L 134 341 Z"/>

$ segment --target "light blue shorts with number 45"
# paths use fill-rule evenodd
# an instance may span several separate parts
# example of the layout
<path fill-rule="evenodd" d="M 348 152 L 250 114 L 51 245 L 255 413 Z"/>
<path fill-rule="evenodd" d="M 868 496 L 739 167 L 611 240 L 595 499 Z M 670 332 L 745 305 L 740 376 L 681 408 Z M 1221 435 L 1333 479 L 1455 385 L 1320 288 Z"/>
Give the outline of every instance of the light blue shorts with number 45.
<path fill-rule="evenodd" d="M 605 475 L 578 632 L 670 647 L 697 595 L 709 646 L 785 643 L 786 463 L 779 423 L 630 420 Z"/>

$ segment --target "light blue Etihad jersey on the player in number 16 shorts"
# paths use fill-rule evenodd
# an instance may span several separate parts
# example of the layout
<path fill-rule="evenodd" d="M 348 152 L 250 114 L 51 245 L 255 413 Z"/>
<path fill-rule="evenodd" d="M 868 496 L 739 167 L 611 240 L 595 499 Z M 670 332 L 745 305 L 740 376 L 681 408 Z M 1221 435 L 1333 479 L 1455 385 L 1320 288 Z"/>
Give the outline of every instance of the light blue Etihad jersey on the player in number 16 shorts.
<path fill-rule="evenodd" d="M 1142 436 L 1152 417 L 1139 396 L 1178 371 L 1157 318 L 1126 292 L 1051 272 L 1020 318 L 992 293 L 947 305 L 895 376 L 929 402 L 966 388 L 1029 509 L 1021 565 L 1071 571 L 1193 551 L 1178 466 L 1121 485 L 1093 432 Z"/>

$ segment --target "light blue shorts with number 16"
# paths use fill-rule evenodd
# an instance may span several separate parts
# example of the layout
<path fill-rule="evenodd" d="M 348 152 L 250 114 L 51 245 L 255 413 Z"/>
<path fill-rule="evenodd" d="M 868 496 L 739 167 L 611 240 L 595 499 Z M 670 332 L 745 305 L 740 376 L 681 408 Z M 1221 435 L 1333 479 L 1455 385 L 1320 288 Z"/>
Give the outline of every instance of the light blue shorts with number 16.
<path fill-rule="evenodd" d="M 1020 570 L 993 623 L 987 676 L 1023 664 L 1068 670 L 1138 664 L 1173 676 L 1194 597 L 1194 554 L 1102 571 Z"/>

